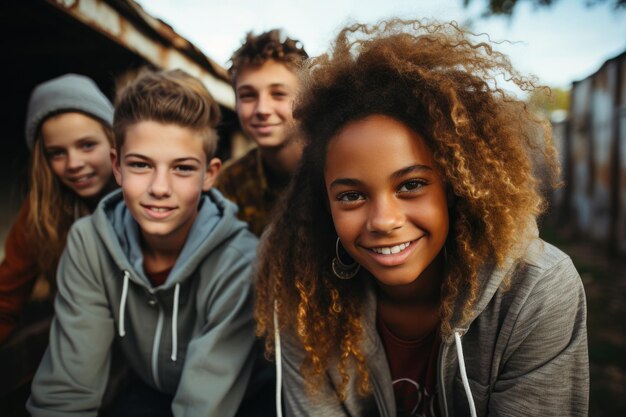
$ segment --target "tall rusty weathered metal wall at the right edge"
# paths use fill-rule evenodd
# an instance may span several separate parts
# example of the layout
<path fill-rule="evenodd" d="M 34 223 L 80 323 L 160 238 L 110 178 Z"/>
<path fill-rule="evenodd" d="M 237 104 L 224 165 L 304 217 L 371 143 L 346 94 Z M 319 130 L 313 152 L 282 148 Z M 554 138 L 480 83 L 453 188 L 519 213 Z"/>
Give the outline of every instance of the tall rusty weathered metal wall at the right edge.
<path fill-rule="evenodd" d="M 555 206 L 581 234 L 626 252 L 626 53 L 572 86 L 567 192 Z M 563 207 L 567 206 L 567 207 Z"/>

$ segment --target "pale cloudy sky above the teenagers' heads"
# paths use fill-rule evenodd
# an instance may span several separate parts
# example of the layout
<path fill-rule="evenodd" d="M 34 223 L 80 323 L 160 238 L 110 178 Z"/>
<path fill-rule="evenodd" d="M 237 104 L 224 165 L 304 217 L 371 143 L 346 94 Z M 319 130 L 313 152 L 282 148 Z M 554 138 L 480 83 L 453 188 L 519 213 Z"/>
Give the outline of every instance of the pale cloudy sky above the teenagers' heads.
<path fill-rule="evenodd" d="M 527 1 L 505 17 L 481 18 L 486 0 L 139 0 L 151 15 L 168 23 L 207 56 L 228 67 L 245 33 L 283 28 L 309 55 L 325 52 L 338 29 L 350 22 L 374 23 L 390 16 L 471 23 L 493 40 L 513 41 L 500 49 L 524 73 L 568 88 L 626 50 L 626 10 L 609 0 L 592 8 L 585 0 L 558 0 L 535 9 Z"/>

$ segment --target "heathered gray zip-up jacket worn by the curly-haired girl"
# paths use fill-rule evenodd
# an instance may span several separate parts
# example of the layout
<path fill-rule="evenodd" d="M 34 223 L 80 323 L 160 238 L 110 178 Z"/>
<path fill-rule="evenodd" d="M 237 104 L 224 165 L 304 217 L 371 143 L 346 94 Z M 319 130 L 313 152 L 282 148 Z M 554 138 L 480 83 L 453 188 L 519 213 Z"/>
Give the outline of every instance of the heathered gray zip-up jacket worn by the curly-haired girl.
<path fill-rule="evenodd" d="M 508 289 L 503 288 L 505 276 L 510 278 Z M 510 261 L 502 269 L 485 268 L 480 279 L 474 317 L 465 327 L 453 323 L 455 336 L 441 343 L 437 377 L 440 415 L 470 416 L 467 393 L 471 391 L 478 416 L 586 416 L 589 360 L 585 294 L 570 258 L 536 239 L 521 262 Z M 376 330 L 373 285 L 369 286 L 363 311 L 363 347 L 373 394 L 360 396 L 353 377 L 347 399 L 341 403 L 333 388 L 341 378 L 331 369 L 327 386 L 309 397 L 299 372 L 303 350 L 283 332 L 279 335 L 282 363 L 277 364 L 282 367 L 279 377 L 284 380 L 288 416 L 395 417 L 389 366 Z M 461 363 L 465 372 L 460 371 Z"/>

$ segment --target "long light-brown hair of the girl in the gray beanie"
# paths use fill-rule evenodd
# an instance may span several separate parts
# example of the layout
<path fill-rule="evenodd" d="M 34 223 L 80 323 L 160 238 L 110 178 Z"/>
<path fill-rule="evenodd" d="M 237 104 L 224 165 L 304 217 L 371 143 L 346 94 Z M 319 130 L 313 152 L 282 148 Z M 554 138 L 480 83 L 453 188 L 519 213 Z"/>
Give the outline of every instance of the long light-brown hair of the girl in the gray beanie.
<path fill-rule="evenodd" d="M 50 117 L 64 112 L 52 113 Z M 87 114 L 87 116 L 92 117 Z M 111 126 L 97 120 L 102 126 L 111 147 L 113 147 L 113 130 Z M 40 123 L 40 126 L 43 122 Z M 102 194 L 115 188 L 115 180 L 105 186 Z M 84 216 L 94 209 L 86 201 L 61 183 L 52 172 L 46 150 L 41 137 L 41 127 L 33 144 L 33 153 L 30 162 L 29 189 L 28 189 L 28 230 L 29 247 L 36 254 L 37 267 L 44 274 L 54 288 L 56 267 L 65 249 L 67 233 L 78 216 Z"/>

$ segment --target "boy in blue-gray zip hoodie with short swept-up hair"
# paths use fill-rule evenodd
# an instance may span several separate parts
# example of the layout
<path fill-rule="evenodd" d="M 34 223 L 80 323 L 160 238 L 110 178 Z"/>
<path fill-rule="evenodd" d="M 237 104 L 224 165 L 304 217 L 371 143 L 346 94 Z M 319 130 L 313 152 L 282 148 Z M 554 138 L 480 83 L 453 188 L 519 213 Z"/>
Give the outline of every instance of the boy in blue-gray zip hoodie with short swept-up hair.
<path fill-rule="evenodd" d="M 121 92 L 112 152 L 121 190 L 69 234 L 33 416 L 97 415 L 114 340 L 173 415 L 235 414 L 251 372 L 257 241 L 211 189 L 218 119 L 182 71 L 144 73 Z"/>

